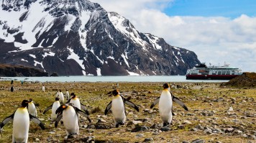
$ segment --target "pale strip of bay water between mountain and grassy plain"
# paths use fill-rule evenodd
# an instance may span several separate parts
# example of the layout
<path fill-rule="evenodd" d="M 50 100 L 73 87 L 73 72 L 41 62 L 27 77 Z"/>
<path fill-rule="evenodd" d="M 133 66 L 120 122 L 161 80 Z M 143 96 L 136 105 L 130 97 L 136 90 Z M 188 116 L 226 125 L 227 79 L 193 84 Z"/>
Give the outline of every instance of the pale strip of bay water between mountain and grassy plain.
<path fill-rule="evenodd" d="M 229 80 L 186 80 L 185 75 L 128 75 L 128 76 L 58 76 L 58 77 L 1 77 L 0 80 L 39 82 L 206 82 L 223 83 Z"/>

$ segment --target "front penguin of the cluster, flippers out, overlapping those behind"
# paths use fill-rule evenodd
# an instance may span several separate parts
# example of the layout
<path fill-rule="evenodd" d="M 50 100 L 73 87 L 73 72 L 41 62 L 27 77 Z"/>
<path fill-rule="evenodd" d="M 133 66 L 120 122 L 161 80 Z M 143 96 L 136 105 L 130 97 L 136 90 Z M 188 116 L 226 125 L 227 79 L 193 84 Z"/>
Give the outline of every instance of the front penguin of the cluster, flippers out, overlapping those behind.
<path fill-rule="evenodd" d="M 65 131 L 68 138 L 73 134 L 79 134 L 78 114 L 82 114 L 83 116 L 85 116 L 91 123 L 91 119 L 89 118 L 88 114 L 86 114 L 86 112 L 84 111 L 81 111 L 76 106 L 73 106 L 73 103 L 62 104 L 56 110 L 55 114 L 58 114 L 55 121 L 55 127 L 57 128 L 58 122 L 60 121 L 60 119 L 63 118 L 63 124 L 65 126 Z"/>

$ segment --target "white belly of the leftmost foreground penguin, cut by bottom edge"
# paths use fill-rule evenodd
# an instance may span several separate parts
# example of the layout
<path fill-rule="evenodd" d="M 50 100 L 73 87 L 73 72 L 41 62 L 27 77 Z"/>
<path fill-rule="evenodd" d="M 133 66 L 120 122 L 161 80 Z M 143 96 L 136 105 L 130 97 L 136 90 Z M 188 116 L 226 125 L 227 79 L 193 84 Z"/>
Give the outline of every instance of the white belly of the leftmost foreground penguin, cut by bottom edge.
<path fill-rule="evenodd" d="M 27 142 L 29 137 L 29 113 L 19 108 L 14 114 L 12 142 Z"/>

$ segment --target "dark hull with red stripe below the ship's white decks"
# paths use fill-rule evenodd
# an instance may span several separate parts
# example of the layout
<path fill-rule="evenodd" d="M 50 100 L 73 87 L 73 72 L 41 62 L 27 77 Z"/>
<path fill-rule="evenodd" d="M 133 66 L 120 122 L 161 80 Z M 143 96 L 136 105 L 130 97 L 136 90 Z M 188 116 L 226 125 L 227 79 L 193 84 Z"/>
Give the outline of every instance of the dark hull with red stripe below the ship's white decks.
<path fill-rule="evenodd" d="M 187 80 L 231 80 L 238 75 L 186 75 Z"/>

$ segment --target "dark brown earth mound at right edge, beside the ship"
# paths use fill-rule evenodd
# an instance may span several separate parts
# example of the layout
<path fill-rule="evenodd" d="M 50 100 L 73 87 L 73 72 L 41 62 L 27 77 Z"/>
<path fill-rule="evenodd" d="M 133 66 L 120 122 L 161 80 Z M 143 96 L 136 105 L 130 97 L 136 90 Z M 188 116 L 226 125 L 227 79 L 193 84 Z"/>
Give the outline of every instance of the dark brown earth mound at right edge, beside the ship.
<path fill-rule="evenodd" d="M 236 88 L 256 88 L 256 73 L 242 73 L 242 75 L 221 83 L 221 86 L 231 86 Z"/>

